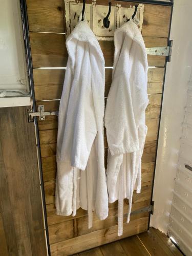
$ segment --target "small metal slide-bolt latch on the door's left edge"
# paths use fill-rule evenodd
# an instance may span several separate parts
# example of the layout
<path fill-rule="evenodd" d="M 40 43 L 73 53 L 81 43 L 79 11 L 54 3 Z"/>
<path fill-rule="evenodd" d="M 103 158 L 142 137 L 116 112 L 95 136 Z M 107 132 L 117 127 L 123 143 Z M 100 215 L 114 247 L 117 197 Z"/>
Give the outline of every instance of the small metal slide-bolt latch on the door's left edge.
<path fill-rule="evenodd" d="M 34 116 L 38 116 L 39 120 L 45 120 L 46 116 L 58 116 L 58 111 L 45 111 L 44 105 L 38 105 L 38 112 L 33 112 L 32 109 L 28 110 L 29 122 L 34 122 Z"/>

